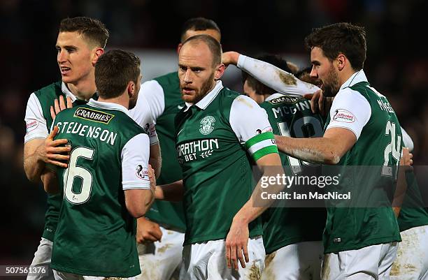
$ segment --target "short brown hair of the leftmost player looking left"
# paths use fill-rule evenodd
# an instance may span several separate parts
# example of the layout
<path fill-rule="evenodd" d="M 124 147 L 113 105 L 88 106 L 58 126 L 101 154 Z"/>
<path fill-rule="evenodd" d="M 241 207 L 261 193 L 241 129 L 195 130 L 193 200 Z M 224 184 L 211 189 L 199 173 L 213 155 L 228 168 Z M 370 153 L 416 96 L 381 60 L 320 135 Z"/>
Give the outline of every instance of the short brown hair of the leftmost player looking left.
<path fill-rule="evenodd" d="M 78 32 L 97 47 L 106 47 L 110 34 L 106 26 L 91 17 L 67 17 L 59 24 L 59 32 Z"/>

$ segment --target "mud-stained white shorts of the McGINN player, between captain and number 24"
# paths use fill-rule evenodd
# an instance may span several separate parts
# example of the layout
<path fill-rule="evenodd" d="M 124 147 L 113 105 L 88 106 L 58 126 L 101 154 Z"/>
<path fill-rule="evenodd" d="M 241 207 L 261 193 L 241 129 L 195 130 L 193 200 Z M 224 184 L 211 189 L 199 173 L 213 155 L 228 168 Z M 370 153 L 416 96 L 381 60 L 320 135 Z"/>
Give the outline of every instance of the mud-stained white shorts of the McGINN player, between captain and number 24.
<path fill-rule="evenodd" d="M 320 280 L 322 256 L 321 241 L 284 246 L 266 255 L 262 280 Z"/>

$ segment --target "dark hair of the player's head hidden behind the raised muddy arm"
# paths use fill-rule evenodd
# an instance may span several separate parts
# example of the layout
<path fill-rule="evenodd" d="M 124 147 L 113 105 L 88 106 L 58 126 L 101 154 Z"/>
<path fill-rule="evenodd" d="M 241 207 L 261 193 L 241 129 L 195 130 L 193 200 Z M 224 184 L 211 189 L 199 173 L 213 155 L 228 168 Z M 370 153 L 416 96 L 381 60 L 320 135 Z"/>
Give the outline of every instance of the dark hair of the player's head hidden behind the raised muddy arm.
<path fill-rule="evenodd" d="M 292 73 L 290 67 L 287 64 L 287 61 L 279 55 L 262 54 L 257 56 L 256 59 L 272 64 L 273 66 L 283 69 L 283 71 L 287 71 L 288 73 Z M 248 74 L 245 71 L 242 71 L 242 82 L 244 83 L 245 80 L 247 81 L 247 84 L 255 90 L 256 94 L 263 95 L 276 93 L 276 90 L 271 89 L 262 82 L 259 82 L 259 80 L 257 80 L 256 78 L 252 77 L 252 75 Z"/>

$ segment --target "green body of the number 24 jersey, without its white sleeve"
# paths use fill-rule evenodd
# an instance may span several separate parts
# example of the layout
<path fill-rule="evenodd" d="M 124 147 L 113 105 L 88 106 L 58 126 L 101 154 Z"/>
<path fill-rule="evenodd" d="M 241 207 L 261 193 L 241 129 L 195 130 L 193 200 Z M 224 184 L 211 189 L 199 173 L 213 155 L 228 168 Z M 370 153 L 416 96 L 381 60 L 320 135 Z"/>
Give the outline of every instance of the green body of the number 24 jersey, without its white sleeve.
<path fill-rule="evenodd" d="M 386 109 L 391 108 L 387 98 L 377 94 L 369 86 L 368 82 L 359 82 L 350 87 L 369 101 L 371 117 L 355 145 L 338 163 L 341 168 L 341 179 L 335 189 L 331 186 L 333 188 L 331 191 L 340 193 L 352 191 L 354 195 L 350 201 L 343 200 L 336 205 L 327 202 L 329 207 L 323 236 L 325 253 L 401 241 L 397 219 L 390 206 L 396 182 L 394 177 L 381 174 L 385 161 L 385 149 L 392 140 L 398 141 L 399 136 L 401 137 L 401 128 L 393 110 Z M 386 106 L 381 108 L 380 104 Z M 327 119 L 326 128 L 329 121 L 330 117 Z M 385 133 L 388 123 L 391 127 L 394 126 L 395 133 L 392 131 Z M 401 142 L 398 145 L 397 150 L 401 151 Z M 388 155 L 389 166 L 393 167 L 392 174 L 398 161 L 399 159 L 395 159 L 392 153 Z M 348 166 L 354 166 L 356 169 L 346 169 Z M 361 205 L 377 206 L 362 207 Z"/>

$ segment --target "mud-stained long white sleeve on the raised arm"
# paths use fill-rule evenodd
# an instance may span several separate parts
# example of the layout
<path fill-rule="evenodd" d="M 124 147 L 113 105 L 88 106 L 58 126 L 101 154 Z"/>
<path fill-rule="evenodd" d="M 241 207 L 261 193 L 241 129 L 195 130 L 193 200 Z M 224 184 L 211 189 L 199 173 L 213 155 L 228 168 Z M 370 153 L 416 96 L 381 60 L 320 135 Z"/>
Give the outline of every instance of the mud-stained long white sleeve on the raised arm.
<path fill-rule="evenodd" d="M 266 86 L 283 94 L 312 94 L 320 89 L 313 84 L 297 79 L 294 75 L 272 64 L 246 57 L 243 54 L 239 55 L 237 66 Z"/>

